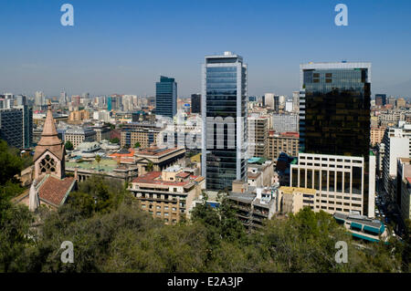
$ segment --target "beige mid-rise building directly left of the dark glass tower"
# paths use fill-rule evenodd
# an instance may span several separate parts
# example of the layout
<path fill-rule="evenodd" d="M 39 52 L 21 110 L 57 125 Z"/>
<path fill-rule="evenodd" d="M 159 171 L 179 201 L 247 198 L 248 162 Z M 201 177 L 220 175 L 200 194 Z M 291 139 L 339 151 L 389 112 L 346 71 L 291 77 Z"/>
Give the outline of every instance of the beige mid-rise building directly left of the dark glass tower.
<path fill-rule="evenodd" d="M 269 130 L 269 159 L 277 161 L 281 152 L 287 153 L 291 157 L 296 157 L 299 153 L 299 133 L 282 132 L 275 133 Z"/>

